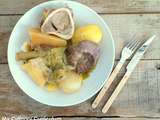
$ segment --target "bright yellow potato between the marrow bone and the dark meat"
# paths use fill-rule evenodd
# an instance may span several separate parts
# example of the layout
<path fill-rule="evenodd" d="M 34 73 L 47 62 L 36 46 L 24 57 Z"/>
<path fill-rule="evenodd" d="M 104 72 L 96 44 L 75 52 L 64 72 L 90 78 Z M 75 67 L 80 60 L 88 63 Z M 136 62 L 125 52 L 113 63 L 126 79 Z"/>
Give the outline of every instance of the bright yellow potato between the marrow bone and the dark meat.
<path fill-rule="evenodd" d="M 99 43 L 102 39 L 102 31 L 97 25 L 86 25 L 75 30 L 72 38 L 73 43 L 78 43 L 82 40 L 90 40 Z"/>

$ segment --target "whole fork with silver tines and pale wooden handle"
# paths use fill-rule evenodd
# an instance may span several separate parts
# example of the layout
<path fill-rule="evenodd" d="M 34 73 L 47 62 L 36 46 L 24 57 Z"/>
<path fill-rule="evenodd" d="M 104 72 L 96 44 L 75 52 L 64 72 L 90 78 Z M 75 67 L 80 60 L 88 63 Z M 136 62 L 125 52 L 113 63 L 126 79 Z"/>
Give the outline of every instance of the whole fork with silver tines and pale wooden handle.
<path fill-rule="evenodd" d="M 127 46 L 125 46 L 123 48 L 122 53 L 121 53 L 121 59 L 120 59 L 119 63 L 117 64 L 117 66 L 113 70 L 109 79 L 106 80 L 103 88 L 101 89 L 101 91 L 99 92 L 97 97 L 95 98 L 94 102 L 92 103 L 92 108 L 96 108 L 98 106 L 98 104 L 102 100 L 104 94 L 106 93 L 106 91 L 108 90 L 110 85 L 112 84 L 114 78 L 117 76 L 117 73 L 120 71 L 120 69 L 122 68 L 125 61 L 129 57 L 132 56 L 132 54 L 135 52 L 135 50 L 138 48 L 139 45 L 140 45 L 140 42 L 138 40 L 135 41 L 135 38 L 134 38 L 129 44 L 127 44 Z"/>

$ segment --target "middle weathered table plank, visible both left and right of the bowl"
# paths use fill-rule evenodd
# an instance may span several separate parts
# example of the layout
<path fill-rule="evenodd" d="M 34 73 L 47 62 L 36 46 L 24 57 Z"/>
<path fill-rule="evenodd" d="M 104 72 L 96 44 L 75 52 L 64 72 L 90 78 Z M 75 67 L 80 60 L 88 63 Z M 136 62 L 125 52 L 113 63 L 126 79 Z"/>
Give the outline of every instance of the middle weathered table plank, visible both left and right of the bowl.
<path fill-rule="evenodd" d="M 157 39 L 143 59 L 160 59 L 160 14 L 102 15 L 111 28 L 116 46 L 116 59 L 134 33 L 156 34 Z M 7 63 L 7 44 L 10 33 L 20 16 L 0 16 L 0 63 Z"/>

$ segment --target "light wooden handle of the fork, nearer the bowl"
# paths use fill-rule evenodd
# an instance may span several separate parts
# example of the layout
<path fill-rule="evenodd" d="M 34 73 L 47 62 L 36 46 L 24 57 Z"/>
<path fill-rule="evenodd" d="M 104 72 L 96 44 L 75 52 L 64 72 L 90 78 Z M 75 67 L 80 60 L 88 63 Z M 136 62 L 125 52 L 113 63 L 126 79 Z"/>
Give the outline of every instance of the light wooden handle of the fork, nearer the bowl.
<path fill-rule="evenodd" d="M 117 73 L 120 71 L 121 67 L 123 66 L 123 63 L 124 63 L 124 61 L 120 61 L 117 64 L 117 66 L 113 70 L 111 76 L 109 77 L 108 80 L 106 80 L 103 88 L 101 89 L 101 91 L 99 92 L 99 94 L 95 98 L 94 102 L 92 103 L 92 108 L 96 108 L 98 106 L 98 104 L 100 103 L 100 101 L 103 98 L 104 94 L 106 93 L 106 91 L 108 90 L 108 88 L 110 87 L 110 85 L 112 84 L 114 78 L 117 76 Z"/>

